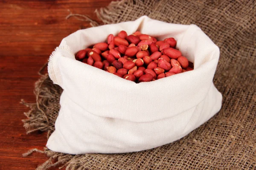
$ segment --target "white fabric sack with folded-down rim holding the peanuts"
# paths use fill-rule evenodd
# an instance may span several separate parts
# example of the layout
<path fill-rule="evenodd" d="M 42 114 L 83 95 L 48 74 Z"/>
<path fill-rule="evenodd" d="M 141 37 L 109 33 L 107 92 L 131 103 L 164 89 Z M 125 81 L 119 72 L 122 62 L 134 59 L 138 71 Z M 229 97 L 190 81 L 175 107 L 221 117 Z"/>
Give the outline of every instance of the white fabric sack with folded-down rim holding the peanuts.
<path fill-rule="evenodd" d="M 183 56 L 194 62 L 194 70 L 136 84 L 75 59 L 77 51 L 121 30 L 139 30 L 158 40 L 174 37 Z M 222 95 L 212 82 L 218 58 L 219 48 L 195 25 L 143 16 L 76 31 L 49 59 L 49 77 L 64 91 L 46 146 L 70 154 L 125 153 L 186 136 L 221 108 Z"/>

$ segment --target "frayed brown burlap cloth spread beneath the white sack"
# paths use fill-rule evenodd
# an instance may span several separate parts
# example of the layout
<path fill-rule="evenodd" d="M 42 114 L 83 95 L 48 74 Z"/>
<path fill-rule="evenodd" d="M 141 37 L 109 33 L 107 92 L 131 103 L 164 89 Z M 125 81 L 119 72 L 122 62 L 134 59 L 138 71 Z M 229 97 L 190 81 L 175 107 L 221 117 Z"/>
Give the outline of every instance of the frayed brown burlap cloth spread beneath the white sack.
<path fill-rule="evenodd" d="M 96 11 L 105 24 L 142 15 L 169 23 L 198 25 L 221 50 L 214 84 L 221 111 L 184 138 L 137 153 L 69 155 L 45 149 L 44 170 L 256 169 L 256 2 L 254 0 L 122 0 Z M 27 132 L 54 130 L 62 89 L 48 75 L 35 84 L 35 104 L 25 113 Z M 24 156 L 28 155 L 25 154 Z M 54 161 L 55 160 L 55 161 Z M 53 163 L 55 162 L 55 163 Z"/>

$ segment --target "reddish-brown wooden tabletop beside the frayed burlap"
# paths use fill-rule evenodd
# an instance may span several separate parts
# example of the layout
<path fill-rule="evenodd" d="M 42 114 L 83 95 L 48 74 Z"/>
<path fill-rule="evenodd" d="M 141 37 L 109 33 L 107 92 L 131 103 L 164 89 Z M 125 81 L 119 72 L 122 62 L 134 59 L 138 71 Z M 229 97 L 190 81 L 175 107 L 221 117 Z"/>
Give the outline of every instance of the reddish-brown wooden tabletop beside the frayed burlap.
<path fill-rule="evenodd" d="M 87 14 L 97 20 L 96 8 L 111 0 L 0 0 L 0 170 L 34 170 L 47 157 L 33 153 L 43 149 L 46 133 L 26 134 L 21 119 L 29 108 L 20 99 L 35 102 L 37 72 L 61 40 L 89 23 L 65 17 Z M 58 169 L 58 168 L 55 168 Z"/>

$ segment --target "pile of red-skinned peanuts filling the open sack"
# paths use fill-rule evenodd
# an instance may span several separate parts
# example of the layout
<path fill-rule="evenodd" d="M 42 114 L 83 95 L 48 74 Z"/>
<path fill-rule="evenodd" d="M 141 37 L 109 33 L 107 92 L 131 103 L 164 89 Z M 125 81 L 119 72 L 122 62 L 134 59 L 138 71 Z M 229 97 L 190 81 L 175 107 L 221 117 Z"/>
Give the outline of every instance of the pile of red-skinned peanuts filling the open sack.
<path fill-rule="evenodd" d="M 78 51 L 76 59 L 133 82 L 150 82 L 193 70 L 193 63 L 176 47 L 174 38 L 157 41 L 136 31 L 108 35 L 107 43 Z"/>

